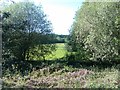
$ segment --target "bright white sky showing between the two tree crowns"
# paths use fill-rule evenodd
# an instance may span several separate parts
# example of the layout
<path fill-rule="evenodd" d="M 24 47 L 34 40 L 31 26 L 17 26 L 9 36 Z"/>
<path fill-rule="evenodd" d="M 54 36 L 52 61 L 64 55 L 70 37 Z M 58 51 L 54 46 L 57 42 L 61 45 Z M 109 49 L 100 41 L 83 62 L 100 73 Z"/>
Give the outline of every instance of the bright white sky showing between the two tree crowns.
<path fill-rule="evenodd" d="M 9 1 L 9 0 L 8 0 Z M 13 0 L 34 1 L 41 4 L 48 20 L 51 21 L 55 34 L 68 35 L 73 24 L 76 11 L 84 0 Z"/>

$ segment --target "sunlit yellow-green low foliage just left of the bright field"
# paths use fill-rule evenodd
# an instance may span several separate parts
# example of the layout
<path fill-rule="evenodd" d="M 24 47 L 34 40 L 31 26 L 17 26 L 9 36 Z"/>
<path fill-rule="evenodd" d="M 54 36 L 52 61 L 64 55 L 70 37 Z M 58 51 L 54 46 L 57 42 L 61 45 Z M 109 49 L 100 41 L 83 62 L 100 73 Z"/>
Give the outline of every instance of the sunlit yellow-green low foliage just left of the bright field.
<path fill-rule="evenodd" d="M 41 44 L 35 48 L 30 49 L 29 60 L 45 60 L 47 56 L 51 55 L 54 52 L 56 52 L 55 44 Z"/>

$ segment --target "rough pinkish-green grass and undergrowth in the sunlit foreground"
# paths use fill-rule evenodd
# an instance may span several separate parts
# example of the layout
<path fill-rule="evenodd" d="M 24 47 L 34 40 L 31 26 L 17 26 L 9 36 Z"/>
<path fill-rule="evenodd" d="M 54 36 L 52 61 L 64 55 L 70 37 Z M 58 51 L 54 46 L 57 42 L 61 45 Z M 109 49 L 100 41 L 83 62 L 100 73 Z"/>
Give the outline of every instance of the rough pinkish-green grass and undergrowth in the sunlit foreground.
<path fill-rule="evenodd" d="M 98 70 L 96 67 L 73 68 L 52 64 L 33 70 L 26 76 L 20 74 L 3 77 L 4 87 L 26 88 L 118 88 L 118 69 Z"/>

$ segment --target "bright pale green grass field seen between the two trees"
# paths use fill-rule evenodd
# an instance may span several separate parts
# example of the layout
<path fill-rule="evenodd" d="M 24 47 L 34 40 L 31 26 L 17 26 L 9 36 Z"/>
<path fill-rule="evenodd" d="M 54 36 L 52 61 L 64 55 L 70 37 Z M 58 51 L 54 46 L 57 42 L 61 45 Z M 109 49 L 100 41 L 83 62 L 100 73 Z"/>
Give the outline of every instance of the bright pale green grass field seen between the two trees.
<path fill-rule="evenodd" d="M 56 51 L 54 51 L 51 55 L 45 57 L 46 60 L 55 60 L 62 58 L 66 55 L 67 50 L 65 48 L 65 43 L 57 43 Z"/>

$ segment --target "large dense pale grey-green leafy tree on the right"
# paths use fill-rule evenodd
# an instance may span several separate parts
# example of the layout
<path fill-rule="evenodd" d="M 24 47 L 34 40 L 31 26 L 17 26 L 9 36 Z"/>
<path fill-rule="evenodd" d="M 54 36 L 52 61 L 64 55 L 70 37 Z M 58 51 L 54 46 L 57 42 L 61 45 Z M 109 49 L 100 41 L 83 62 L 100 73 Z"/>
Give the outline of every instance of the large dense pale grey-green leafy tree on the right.
<path fill-rule="evenodd" d="M 89 60 L 113 60 L 120 55 L 120 4 L 85 2 L 77 11 L 70 48 Z"/>

